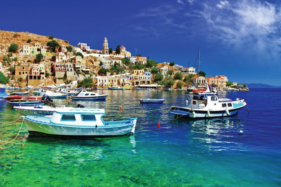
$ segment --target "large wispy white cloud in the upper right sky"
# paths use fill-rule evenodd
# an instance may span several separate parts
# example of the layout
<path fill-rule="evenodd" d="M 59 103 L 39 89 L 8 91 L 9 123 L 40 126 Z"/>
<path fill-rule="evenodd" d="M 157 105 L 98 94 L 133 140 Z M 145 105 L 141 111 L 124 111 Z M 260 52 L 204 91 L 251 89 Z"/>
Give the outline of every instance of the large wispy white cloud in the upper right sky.
<path fill-rule="evenodd" d="M 267 55 L 278 54 L 281 50 L 280 6 L 256 0 L 203 5 L 200 15 L 207 22 L 208 38 L 236 48 L 251 45 L 257 53 L 267 50 Z"/>

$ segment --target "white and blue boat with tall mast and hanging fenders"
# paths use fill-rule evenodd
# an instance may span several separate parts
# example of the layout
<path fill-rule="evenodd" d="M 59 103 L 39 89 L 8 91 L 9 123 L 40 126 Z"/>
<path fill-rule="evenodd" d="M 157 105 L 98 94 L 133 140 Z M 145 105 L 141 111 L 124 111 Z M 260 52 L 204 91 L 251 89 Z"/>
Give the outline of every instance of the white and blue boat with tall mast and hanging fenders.
<path fill-rule="evenodd" d="M 171 112 L 177 117 L 209 118 L 228 117 L 238 113 L 246 106 L 244 99 L 236 98 L 235 101 L 227 98 L 218 98 L 207 86 L 206 91 L 190 92 L 192 100 L 187 107 L 173 106 Z"/>

